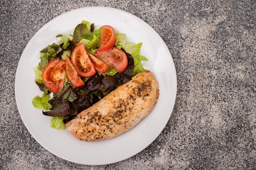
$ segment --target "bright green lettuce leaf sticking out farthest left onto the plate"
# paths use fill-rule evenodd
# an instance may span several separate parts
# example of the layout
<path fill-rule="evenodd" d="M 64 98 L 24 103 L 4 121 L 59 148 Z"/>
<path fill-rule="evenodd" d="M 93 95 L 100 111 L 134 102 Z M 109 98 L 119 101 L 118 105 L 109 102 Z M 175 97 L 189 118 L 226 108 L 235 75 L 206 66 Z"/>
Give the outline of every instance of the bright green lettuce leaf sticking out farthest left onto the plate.
<path fill-rule="evenodd" d="M 49 110 L 52 108 L 52 105 L 48 103 L 48 99 L 48 94 L 43 94 L 42 97 L 36 95 L 36 97 L 32 99 L 32 104 L 35 108 L 43 108 L 44 110 Z"/>

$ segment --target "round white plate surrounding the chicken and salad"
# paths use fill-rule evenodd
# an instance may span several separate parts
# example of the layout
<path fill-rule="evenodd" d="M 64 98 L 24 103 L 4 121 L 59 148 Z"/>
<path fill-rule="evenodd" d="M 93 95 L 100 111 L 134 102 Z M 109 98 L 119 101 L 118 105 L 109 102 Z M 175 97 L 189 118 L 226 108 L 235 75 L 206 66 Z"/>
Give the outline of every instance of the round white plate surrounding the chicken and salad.
<path fill-rule="evenodd" d="M 152 112 L 134 128 L 113 139 L 86 142 L 79 141 L 67 130 L 50 127 L 52 117 L 42 114 L 31 101 L 42 95 L 35 84 L 33 66 L 40 62 L 39 51 L 48 44 L 58 42 L 59 33 L 73 33 L 82 20 L 95 23 L 97 27 L 111 25 L 115 31 L 125 33 L 131 42 L 143 42 L 141 55 L 147 70 L 157 79 L 160 95 Z M 20 117 L 27 130 L 49 152 L 67 161 L 103 165 L 122 161 L 150 145 L 164 129 L 171 116 L 176 98 L 177 79 L 171 54 L 157 32 L 136 16 L 113 8 L 86 7 L 64 13 L 43 26 L 24 49 L 15 77 L 15 95 Z"/>

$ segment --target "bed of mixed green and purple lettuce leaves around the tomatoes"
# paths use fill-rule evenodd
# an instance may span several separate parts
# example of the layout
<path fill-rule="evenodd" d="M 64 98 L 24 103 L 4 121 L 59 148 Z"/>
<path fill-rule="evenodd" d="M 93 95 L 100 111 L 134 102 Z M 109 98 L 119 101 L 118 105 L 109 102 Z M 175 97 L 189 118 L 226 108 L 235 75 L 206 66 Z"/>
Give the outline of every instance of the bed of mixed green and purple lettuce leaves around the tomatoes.
<path fill-rule="evenodd" d="M 118 86 L 131 80 L 131 77 L 139 72 L 145 71 L 142 61 L 148 59 L 143 55 L 139 55 L 142 43 L 135 44 L 124 39 L 123 33 L 115 33 L 115 46 L 126 53 L 128 66 L 125 71 L 119 73 L 114 68 L 109 68 L 103 74 L 97 73 L 92 77 L 81 77 L 84 86 L 74 88 L 67 77 L 65 77 L 63 89 L 53 94 L 53 98 L 49 99 L 50 91 L 45 86 L 42 78 L 42 72 L 45 66 L 55 57 L 62 60 L 66 59 L 66 55 L 70 56 L 74 47 L 83 42 L 85 49 L 92 55 L 99 49 L 101 41 L 101 27 L 94 30 L 94 24 L 83 20 L 78 24 L 73 35 L 58 34 L 58 44 L 48 45 L 40 51 L 40 59 L 37 67 L 33 67 L 35 71 L 35 82 L 44 92 L 42 97 L 38 95 L 32 100 L 35 108 L 43 108 L 44 115 L 52 116 L 51 127 L 59 130 L 65 129 L 65 123 L 70 121 L 78 113 L 89 108 L 93 104 L 99 102 L 103 97 L 108 95 Z"/>

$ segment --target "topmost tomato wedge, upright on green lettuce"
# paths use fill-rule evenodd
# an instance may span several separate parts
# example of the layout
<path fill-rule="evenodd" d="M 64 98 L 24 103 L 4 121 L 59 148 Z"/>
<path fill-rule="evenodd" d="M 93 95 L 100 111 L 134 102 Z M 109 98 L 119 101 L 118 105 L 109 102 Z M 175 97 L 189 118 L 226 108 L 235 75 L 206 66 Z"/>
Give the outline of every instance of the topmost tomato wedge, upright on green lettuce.
<path fill-rule="evenodd" d="M 99 50 L 105 51 L 111 49 L 116 43 L 116 35 L 112 26 L 104 25 L 101 28 L 101 42 Z"/>

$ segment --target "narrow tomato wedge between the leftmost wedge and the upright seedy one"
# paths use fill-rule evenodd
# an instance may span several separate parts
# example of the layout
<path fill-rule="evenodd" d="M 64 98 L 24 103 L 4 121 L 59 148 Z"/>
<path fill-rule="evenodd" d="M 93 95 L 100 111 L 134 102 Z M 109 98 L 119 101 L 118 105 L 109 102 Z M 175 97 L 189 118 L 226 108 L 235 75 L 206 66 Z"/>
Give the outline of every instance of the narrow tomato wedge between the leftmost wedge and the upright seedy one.
<path fill-rule="evenodd" d="M 68 55 L 66 56 L 66 73 L 67 73 L 67 78 L 74 87 L 80 87 L 84 85 L 83 80 L 81 77 L 78 75 L 76 72 L 75 67 L 72 65 L 70 61 L 70 57 Z"/>

